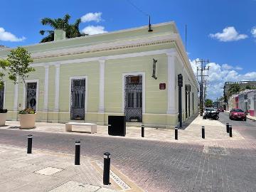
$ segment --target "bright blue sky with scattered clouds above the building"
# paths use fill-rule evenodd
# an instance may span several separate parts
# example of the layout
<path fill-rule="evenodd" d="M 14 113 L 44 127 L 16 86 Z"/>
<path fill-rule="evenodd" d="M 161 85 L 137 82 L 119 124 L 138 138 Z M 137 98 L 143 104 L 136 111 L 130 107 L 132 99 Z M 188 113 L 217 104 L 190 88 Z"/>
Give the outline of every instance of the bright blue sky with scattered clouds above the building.
<path fill-rule="evenodd" d="M 146 25 L 148 18 L 128 1 L 150 14 L 152 23 L 175 21 L 183 40 L 187 24 L 191 65 L 196 68 L 197 58 L 210 60 L 208 97 L 222 95 L 225 81 L 256 80 L 255 0 L 1 0 L 0 45 L 38 43 L 46 29 L 41 18 L 65 14 L 73 22 L 91 13 L 80 25 L 90 33 Z"/>

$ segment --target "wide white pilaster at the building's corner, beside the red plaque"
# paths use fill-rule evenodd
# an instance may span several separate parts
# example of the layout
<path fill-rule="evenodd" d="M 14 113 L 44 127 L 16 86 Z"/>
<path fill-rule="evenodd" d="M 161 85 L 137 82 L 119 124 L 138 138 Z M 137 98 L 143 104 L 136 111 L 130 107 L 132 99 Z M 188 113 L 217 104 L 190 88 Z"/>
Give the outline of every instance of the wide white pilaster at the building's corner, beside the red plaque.
<path fill-rule="evenodd" d="M 168 73 L 168 82 L 167 82 L 167 91 L 168 91 L 168 98 L 167 98 L 167 114 L 177 114 L 177 107 L 176 107 L 176 70 L 175 70 L 175 56 L 176 52 L 166 53 L 167 55 L 167 73 Z"/>

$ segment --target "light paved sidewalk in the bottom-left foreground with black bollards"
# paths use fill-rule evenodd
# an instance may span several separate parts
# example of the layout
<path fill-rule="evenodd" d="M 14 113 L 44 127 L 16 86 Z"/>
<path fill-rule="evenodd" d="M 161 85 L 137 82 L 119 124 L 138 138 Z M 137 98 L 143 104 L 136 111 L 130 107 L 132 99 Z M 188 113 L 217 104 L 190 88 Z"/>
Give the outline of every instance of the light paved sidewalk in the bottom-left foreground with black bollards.
<path fill-rule="evenodd" d="M 134 191 L 129 186 L 129 190 L 124 190 L 112 177 L 112 184 L 103 186 L 102 162 L 85 156 L 81 157 L 80 165 L 75 166 L 74 156 L 70 154 L 41 150 L 26 154 L 26 149 L 1 144 L 0 167 L 0 191 L 5 192 Z M 114 171 L 114 174 L 119 175 L 119 171 Z M 123 181 L 122 178 L 119 180 Z M 122 184 L 125 187 L 126 183 Z"/>

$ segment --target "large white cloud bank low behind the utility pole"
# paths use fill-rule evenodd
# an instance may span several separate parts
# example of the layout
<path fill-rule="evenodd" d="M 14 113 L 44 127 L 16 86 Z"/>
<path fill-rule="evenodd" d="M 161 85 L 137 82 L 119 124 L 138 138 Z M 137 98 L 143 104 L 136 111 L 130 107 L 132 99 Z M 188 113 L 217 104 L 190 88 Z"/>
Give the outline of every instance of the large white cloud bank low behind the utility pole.
<path fill-rule="evenodd" d="M 196 67 L 200 67 L 200 63 L 196 63 L 196 60 L 191 60 L 191 66 L 195 75 Z M 242 70 L 242 68 L 238 66 L 233 67 L 232 65 L 220 65 L 218 63 L 209 63 L 208 66 L 210 70 L 208 74 L 205 74 L 209 75 L 207 78 L 207 97 L 212 100 L 215 100 L 216 97 L 223 96 L 223 87 L 226 81 L 256 80 L 256 71 L 240 74 L 238 70 Z"/>

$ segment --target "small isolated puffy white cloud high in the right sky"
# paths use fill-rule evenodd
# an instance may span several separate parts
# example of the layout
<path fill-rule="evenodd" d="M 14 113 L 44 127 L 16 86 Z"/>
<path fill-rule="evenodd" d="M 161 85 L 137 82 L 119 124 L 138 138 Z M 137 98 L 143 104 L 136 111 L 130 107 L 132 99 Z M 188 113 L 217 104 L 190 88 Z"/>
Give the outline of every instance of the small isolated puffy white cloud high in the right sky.
<path fill-rule="evenodd" d="M 223 29 L 222 33 L 210 33 L 211 38 L 218 39 L 219 41 L 227 42 L 227 41 L 238 41 L 241 39 L 245 39 L 248 36 L 245 34 L 239 34 L 238 31 L 235 30 L 235 27 L 229 26 Z"/>

